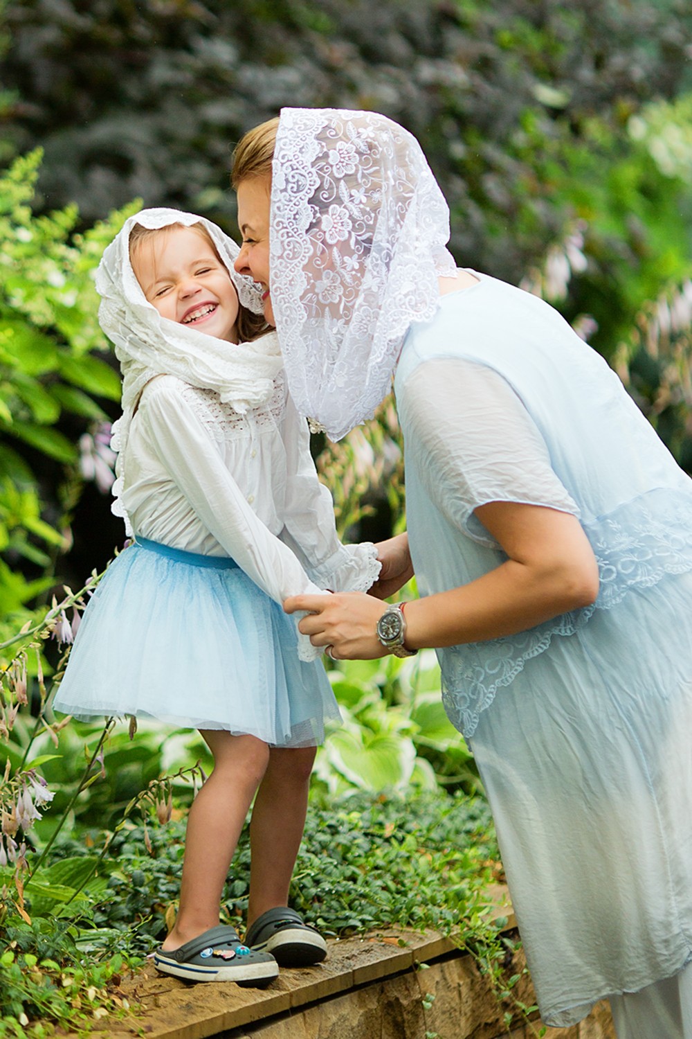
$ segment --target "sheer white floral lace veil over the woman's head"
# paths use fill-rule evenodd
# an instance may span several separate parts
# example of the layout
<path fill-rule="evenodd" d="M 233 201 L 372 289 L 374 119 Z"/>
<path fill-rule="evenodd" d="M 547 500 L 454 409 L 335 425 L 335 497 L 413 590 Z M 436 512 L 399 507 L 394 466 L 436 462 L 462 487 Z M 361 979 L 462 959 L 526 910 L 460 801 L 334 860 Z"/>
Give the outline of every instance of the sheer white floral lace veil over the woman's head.
<path fill-rule="evenodd" d="M 404 338 L 453 277 L 449 210 L 418 141 L 377 112 L 283 108 L 271 294 L 288 387 L 339 439 L 387 395 Z"/>

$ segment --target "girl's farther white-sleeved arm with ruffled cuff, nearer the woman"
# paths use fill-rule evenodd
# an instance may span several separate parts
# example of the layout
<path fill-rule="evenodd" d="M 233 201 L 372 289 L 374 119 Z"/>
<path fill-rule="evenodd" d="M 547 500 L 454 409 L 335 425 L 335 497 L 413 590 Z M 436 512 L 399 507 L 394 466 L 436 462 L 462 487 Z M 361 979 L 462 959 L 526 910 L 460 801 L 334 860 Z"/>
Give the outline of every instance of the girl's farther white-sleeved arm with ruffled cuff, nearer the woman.
<path fill-rule="evenodd" d="M 370 542 L 341 544 L 334 502 L 320 482 L 310 454 L 307 422 L 286 400 L 283 424 L 286 451 L 285 530 L 281 534 L 312 580 L 332 591 L 366 591 L 380 574 L 378 551 Z"/>

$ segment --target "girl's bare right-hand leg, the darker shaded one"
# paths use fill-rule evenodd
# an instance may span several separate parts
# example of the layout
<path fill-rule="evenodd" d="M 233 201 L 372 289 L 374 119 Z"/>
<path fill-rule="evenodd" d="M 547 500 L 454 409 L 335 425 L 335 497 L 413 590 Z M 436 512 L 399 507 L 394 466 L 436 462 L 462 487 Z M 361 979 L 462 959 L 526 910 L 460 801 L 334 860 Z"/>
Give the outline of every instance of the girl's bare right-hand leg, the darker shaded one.
<path fill-rule="evenodd" d="M 248 927 L 268 909 L 288 903 L 315 753 L 316 747 L 270 748 L 250 824 Z"/>

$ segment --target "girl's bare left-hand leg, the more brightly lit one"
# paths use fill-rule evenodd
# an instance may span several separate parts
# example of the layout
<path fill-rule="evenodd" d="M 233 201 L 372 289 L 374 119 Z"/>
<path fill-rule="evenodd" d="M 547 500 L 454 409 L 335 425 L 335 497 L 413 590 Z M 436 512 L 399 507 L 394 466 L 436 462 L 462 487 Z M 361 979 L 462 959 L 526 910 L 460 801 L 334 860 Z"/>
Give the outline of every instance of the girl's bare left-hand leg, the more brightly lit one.
<path fill-rule="evenodd" d="M 164 950 L 178 949 L 218 925 L 230 860 L 270 760 L 269 747 L 254 736 L 212 729 L 201 735 L 214 754 L 214 771 L 188 816 L 181 905 Z M 288 810 L 285 803 L 282 810 Z M 275 842 L 277 836 L 275 831 Z"/>

